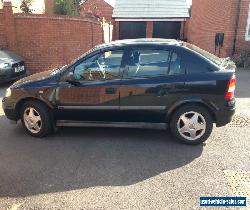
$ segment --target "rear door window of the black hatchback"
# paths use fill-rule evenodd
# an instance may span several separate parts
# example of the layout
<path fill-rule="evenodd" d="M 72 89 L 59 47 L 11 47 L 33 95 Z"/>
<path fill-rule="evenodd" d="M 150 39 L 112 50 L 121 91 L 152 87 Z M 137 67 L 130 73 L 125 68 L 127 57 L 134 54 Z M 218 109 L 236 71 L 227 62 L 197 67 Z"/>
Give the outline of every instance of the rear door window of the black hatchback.
<path fill-rule="evenodd" d="M 181 73 L 180 56 L 169 50 L 128 50 L 124 57 L 123 78 Z"/>

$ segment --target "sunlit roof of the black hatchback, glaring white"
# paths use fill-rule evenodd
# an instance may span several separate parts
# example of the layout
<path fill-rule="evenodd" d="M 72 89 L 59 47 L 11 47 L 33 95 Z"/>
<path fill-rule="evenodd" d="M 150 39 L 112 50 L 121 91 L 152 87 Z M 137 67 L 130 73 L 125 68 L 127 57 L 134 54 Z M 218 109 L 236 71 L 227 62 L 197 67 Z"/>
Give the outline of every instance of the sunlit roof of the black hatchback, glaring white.
<path fill-rule="evenodd" d="M 181 41 L 175 39 L 160 39 L 160 38 L 142 38 L 142 39 L 124 39 L 112 41 L 107 44 L 97 45 L 94 49 L 103 49 L 115 46 L 128 46 L 128 45 L 172 45 L 172 46 L 180 46 Z"/>

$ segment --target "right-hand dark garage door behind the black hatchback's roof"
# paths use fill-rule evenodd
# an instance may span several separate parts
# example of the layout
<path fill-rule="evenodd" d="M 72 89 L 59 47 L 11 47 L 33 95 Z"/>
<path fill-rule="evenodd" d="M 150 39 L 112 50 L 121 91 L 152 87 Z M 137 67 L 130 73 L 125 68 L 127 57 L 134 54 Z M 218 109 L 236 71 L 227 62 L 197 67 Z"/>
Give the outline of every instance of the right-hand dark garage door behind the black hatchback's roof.
<path fill-rule="evenodd" d="M 153 38 L 180 39 L 181 22 L 154 22 Z"/>

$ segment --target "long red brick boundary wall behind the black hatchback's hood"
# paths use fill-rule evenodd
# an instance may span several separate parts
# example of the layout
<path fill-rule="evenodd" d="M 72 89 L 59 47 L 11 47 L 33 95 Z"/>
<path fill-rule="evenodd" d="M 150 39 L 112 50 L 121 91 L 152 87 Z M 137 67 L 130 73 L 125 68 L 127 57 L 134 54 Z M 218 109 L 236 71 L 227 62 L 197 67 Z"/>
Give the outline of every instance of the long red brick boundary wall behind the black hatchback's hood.
<path fill-rule="evenodd" d="M 3 9 L 5 45 L 25 59 L 31 73 L 67 64 L 103 41 L 96 19 L 13 14 L 10 6 Z"/>

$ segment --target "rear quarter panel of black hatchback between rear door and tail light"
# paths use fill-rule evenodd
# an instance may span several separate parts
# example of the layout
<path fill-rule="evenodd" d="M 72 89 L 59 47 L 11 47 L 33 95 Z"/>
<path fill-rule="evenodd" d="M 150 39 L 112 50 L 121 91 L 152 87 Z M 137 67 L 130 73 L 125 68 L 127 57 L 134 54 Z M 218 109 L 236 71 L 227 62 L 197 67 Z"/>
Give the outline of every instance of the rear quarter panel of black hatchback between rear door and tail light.
<path fill-rule="evenodd" d="M 218 71 L 218 66 L 199 53 L 185 48 L 182 51 L 186 69 L 185 97 L 211 103 L 211 107 L 215 104 L 223 106 L 230 76 L 225 80 L 225 74 Z"/>

